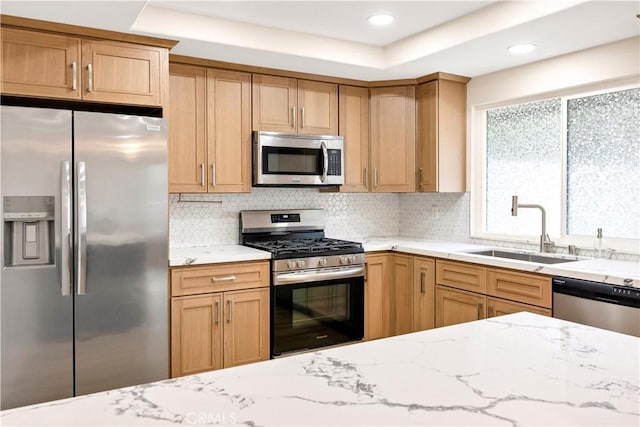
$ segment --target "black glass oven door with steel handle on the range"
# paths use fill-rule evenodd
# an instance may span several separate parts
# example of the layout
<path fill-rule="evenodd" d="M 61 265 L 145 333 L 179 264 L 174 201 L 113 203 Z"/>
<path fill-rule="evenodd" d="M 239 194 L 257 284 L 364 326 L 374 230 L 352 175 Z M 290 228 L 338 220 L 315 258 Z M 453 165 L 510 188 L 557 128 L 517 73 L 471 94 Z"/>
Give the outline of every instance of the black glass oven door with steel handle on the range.
<path fill-rule="evenodd" d="M 339 271 L 342 270 L 342 271 Z M 317 276 L 323 276 L 318 270 Z M 271 288 L 271 356 L 361 340 L 364 336 L 364 267 L 323 269 L 325 278 L 306 280 L 312 272 L 274 273 Z M 351 277 L 345 272 L 360 271 Z M 296 283 L 286 275 L 298 275 Z M 333 277 L 331 277 L 333 275 Z"/>

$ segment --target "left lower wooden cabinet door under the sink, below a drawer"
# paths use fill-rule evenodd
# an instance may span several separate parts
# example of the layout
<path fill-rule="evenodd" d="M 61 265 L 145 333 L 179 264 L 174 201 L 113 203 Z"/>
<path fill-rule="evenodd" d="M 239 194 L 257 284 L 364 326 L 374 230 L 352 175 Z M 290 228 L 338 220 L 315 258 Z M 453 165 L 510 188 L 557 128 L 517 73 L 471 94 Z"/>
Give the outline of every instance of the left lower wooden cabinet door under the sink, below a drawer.
<path fill-rule="evenodd" d="M 436 327 L 484 319 L 485 296 L 436 286 Z"/>

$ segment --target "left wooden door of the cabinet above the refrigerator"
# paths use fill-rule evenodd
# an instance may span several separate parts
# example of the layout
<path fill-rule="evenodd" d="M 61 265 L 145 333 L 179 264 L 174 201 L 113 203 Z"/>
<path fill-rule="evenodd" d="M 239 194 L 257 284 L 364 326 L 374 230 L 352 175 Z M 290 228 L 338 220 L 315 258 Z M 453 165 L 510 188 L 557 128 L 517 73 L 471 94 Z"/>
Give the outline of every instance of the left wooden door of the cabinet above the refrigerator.
<path fill-rule="evenodd" d="M 73 37 L 2 28 L 0 92 L 80 99 L 80 46 Z"/>

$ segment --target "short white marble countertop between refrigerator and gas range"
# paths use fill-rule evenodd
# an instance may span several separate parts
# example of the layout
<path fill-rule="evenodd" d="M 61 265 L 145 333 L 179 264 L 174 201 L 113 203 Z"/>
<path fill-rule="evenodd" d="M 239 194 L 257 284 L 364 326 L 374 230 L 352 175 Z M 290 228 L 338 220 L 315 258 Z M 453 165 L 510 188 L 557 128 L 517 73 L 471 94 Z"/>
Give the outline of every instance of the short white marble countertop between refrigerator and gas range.
<path fill-rule="evenodd" d="M 169 265 L 197 265 L 220 262 L 271 259 L 271 253 L 242 245 L 194 246 L 169 248 Z"/>

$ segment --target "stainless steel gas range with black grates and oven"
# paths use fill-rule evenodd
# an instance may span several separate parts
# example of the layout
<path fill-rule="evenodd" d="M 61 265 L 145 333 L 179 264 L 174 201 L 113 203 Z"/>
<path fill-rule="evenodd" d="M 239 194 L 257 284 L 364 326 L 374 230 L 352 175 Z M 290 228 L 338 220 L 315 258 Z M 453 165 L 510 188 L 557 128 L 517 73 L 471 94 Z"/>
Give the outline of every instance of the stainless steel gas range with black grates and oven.
<path fill-rule="evenodd" d="M 364 249 L 324 224 L 321 209 L 240 212 L 242 244 L 271 252 L 271 357 L 364 336 Z"/>

